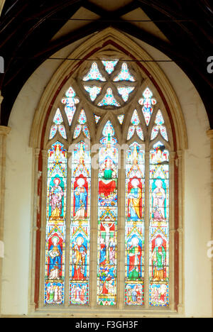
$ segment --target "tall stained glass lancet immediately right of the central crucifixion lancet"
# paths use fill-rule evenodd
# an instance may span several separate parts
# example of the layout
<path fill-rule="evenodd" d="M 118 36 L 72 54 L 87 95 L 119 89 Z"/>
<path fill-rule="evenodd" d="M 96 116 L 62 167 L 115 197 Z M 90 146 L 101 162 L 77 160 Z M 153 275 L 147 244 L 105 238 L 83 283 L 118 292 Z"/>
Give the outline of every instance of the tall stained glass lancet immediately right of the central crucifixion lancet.
<path fill-rule="evenodd" d="M 126 153 L 125 303 L 144 303 L 145 151 L 133 143 Z"/>

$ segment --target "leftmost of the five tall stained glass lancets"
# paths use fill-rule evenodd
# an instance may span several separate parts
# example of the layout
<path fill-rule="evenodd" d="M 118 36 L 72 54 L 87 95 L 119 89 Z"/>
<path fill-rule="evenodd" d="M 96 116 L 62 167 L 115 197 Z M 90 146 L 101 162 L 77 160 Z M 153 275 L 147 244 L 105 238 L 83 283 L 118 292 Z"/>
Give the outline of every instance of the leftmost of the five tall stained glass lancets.
<path fill-rule="evenodd" d="M 67 151 L 56 142 L 48 151 L 45 304 L 64 303 L 66 195 Z"/>

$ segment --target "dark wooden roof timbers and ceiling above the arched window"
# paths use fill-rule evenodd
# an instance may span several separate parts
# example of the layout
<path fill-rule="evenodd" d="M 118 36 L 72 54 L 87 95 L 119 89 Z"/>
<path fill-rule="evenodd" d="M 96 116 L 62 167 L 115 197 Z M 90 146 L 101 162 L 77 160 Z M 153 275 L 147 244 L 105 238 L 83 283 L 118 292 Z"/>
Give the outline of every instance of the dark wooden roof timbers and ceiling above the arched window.
<path fill-rule="evenodd" d="M 88 21 L 86 27 L 75 33 L 52 40 L 80 7 L 97 13 L 99 20 Z M 121 19 L 138 8 L 155 21 L 170 43 Z M 107 26 L 153 45 L 177 63 L 200 93 L 213 128 L 213 74 L 207 72 L 207 58 L 213 57 L 212 0 L 133 0 L 110 12 L 87 0 L 6 0 L 0 21 L 0 55 L 5 61 L 4 74 L 0 74 L 4 96 L 1 126 L 8 125 L 18 93 L 42 62 L 75 40 Z"/>

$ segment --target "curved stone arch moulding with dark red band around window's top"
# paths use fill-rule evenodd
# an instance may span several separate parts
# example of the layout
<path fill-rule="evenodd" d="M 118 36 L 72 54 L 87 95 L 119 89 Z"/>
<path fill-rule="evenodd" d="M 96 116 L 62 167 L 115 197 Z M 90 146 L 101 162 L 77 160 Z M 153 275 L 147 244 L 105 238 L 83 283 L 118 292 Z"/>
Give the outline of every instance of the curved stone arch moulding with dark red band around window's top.
<path fill-rule="evenodd" d="M 124 33 L 116 31 L 114 28 L 107 28 L 92 35 L 75 49 L 53 74 L 35 110 L 31 127 L 30 146 L 38 149 L 45 148 L 45 143 L 48 142 L 50 118 L 53 118 L 53 112 L 58 108 L 65 92 L 72 85 L 72 75 L 84 65 L 84 60 L 95 59 L 99 52 L 102 52 L 102 55 L 113 55 L 119 52 L 121 60 L 129 59 L 133 60 L 134 63 L 138 63 L 141 72 L 146 73 L 141 84 L 144 84 L 144 87 L 146 85 L 151 86 L 159 105 L 162 105 L 162 108 L 164 107 L 167 111 L 165 113 L 168 114 L 168 122 L 171 123 L 173 149 L 176 151 L 187 149 L 187 131 L 182 109 L 168 78 L 160 69 L 158 63 L 154 62 L 145 50 Z M 69 60 L 69 58 L 72 60 Z M 126 121 L 126 127 L 129 126 L 128 122 Z M 125 123 L 123 129 L 124 131 L 126 129 Z"/>

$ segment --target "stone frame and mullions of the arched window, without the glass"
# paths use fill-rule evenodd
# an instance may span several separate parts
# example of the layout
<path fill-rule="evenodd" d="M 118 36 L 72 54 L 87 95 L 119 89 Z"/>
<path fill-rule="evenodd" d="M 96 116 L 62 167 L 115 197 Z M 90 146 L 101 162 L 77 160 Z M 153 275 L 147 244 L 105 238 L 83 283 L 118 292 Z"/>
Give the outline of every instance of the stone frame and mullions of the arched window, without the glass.
<path fill-rule="evenodd" d="M 113 41 L 112 41 L 113 40 Z M 150 87 L 151 91 L 153 92 L 153 96 L 155 96 L 155 99 L 158 99 L 158 109 L 160 109 L 163 113 L 163 117 L 165 120 L 165 126 L 168 130 L 168 136 L 170 138 L 170 144 L 165 142 L 166 148 L 170 150 L 170 206 L 174 206 L 174 209 L 172 209 L 171 214 L 171 221 L 170 221 L 170 255 L 171 259 L 170 262 L 172 262 L 172 268 L 170 269 L 171 272 L 171 292 L 170 292 L 170 307 L 167 309 L 163 309 L 162 312 L 170 312 L 175 313 L 178 312 L 178 314 L 182 313 L 184 303 L 183 303 L 183 287 L 182 287 L 182 280 L 183 280 L 183 271 L 182 271 L 182 242 L 183 242 L 183 214 L 182 214 L 182 151 L 187 148 L 187 139 L 186 139 L 186 131 L 185 131 L 185 123 L 183 120 L 182 112 L 180 109 L 180 104 L 178 103 L 178 98 L 175 96 L 175 92 L 173 91 L 173 88 L 170 86 L 170 83 L 168 82 L 168 79 L 166 79 L 163 72 L 160 70 L 158 65 L 155 62 L 137 62 L 137 58 L 145 59 L 145 60 L 151 60 L 151 57 L 138 45 L 133 43 L 132 40 L 127 38 L 121 33 L 118 33 L 117 31 L 114 31 L 114 29 L 106 29 L 106 31 L 103 31 L 102 33 L 97 34 L 97 36 L 90 38 L 90 40 L 87 40 L 86 43 L 84 43 L 80 48 L 77 48 L 74 52 L 72 52 L 72 55 L 70 57 L 73 58 L 93 58 L 94 56 L 97 56 L 97 59 L 99 57 L 97 48 L 94 46 L 97 45 L 97 42 L 99 42 L 99 51 L 104 52 L 104 54 L 109 56 L 113 55 L 114 57 L 116 55 L 119 55 L 119 60 L 124 60 L 127 57 L 129 57 L 130 60 L 133 60 L 135 62 L 134 66 L 138 66 L 139 71 L 141 72 L 142 76 L 146 76 L 146 79 L 143 80 L 143 82 L 140 82 L 138 84 L 138 87 L 140 89 L 143 87 Z M 110 45 L 110 46 L 109 46 Z M 109 50 L 110 48 L 110 50 Z M 91 50 L 94 49 L 94 52 Z M 139 56 L 140 55 L 140 56 Z M 123 56 L 123 57 L 122 57 Z M 44 272 L 44 265 L 45 265 L 45 255 L 44 255 L 44 248 L 45 248 L 45 194 L 46 194 L 46 178 L 45 173 L 47 169 L 47 151 L 51 146 L 51 141 L 49 141 L 49 133 L 50 133 L 50 127 L 51 124 L 53 124 L 53 117 L 55 115 L 55 110 L 59 107 L 62 108 L 62 104 L 60 104 L 60 101 L 62 100 L 65 91 L 72 86 L 72 84 L 76 87 L 75 91 L 77 96 L 81 95 L 80 87 L 78 88 L 77 81 L 73 79 L 73 77 L 78 76 L 77 72 L 80 70 L 82 74 L 80 77 L 84 77 L 84 70 L 82 70 L 82 62 L 80 61 L 65 61 L 58 71 L 53 75 L 53 78 L 50 80 L 50 84 L 48 84 L 47 89 L 45 90 L 45 93 L 43 94 L 43 97 L 40 100 L 40 104 L 38 105 L 38 109 L 35 112 L 35 118 L 33 121 L 33 127 L 31 132 L 31 146 L 35 150 L 35 190 L 34 190 L 34 197 L 35 197 L 35 204 L 34 204 L 34 220 L 33 220 L 33 241 L 32 241 L 32 283 L 31 283 L 31 311 L 40 311 L 40 312 L 50 312 L 54 313 L 54 311 L 58 310 L 56 308 L 50 308 L 43 306 L 43 272 Z M 83 65 L 88 68 L 87 61 L 83 62 Z M 67 74 L 68 73 L 68 74 Z M 137 77 L 140 77 L 139 74 L 136 75 Z M 56 83 L 57 82 L 57 83 Z M 137 93 L 137 92 L 136 92 Z M 134 100 L 138 100 L 141 98 L 141 94 L 138 92 L 137 97 L 134 97 Z M 85 101 L 85 105 L 87 104 L 87 101 Z M 158 109 L 154 109 L 153 116 L 151 117 L 151 123 L 155 120 L 155 114 Z M 116 137 L 119 140 L 120 144 L 126 143 L 126 135 L 129 128 L 129 123 L 131 121 L 131 115 L 133 113 L 133 108 L 129 108 L 129 114 L 126 112 L 126 116 L 124 118 L 124 123 L 120 125 L 119 121 L 116 121 L 116 118 L 109 114 L 105 116 L 102 116 L 99 123 L 97 123 L 97 126 L 95 124 L 93 113 L 86 110 L 86 106 L 84 108 L 84 111 L 87 116 L 87 123 L 89 123 L 89 129 L 90 132 L 93 132 L 97 128 L 97 135 L 96 140 L 94 140 L 94 137 L 92 137 L 92 145 L 95 143 L 99 143 L 99 138 L 102 135 L 102 130 L 104 128 L 104 124 L 106 123 L 107 119 L 111 119 L 111 122 L 114 124 L 114 127 L 116 128 Z M 132 111 L 132 112 L 131 112 Z M 104 114 L 104 111 L 101 112 Z M 121 114 L 121 109 L 119 111 L 116 111 L 115 114 L 119 115 Z M 73 137 L 73 133 L 75 131 L 75 123 L 77 123 L 77 117 L 78 117 L 77 111 L 75 112 L 75 116 L 72 119 L 73 126 L 71 127 L 71 133 L 70 137 Z M 138 115 L 140 112 L 138 112 Z M 99 114 L 98 114 L 99 115 Z M 140 117 L 142 116 L 139 115 Z M 65 124 L 66 130 L 69 128 L 67 124 L 67 120 L 65 116 L 63 117 L 63 123 Z M 145 140 L 146 136 L 151 133 L 146 133 L 146 126 L 144 125 L 144 121 L 141 119 L 141 124 L 143 126 L 143 133 L 145 134 Z M 122 130 L 121 130 L 122 128 Z M 149 126 L 149 128 L 152 128 Z M 149 129 L 150 131 L 151 129 Z M 133 138 L 129 140 L 128 144 L 133 142 L 135 140 L 135 135 L 133 135 Z M 82 134 L 80 137 L 78 137 L 75 142 L 79 142 L 82 139 Z M 62 144 L 64 144 L 64 147 L 66 150 L 69 150 L 70 142 L 69 139 L 66 141 L 64 140 L 59 133 L 57 133 L 54 137 L 55 140 L 60 140 Z M 138 138 L 137 138 L 138 140 Z M 148 142 L 146 140 L 146 172 L 148 173 L 148 152 L 155 143 L 155 141 L 158 140 L 158 137 L 155 138 L 152 142 Z M 93 152 L 94 154 L 97 152 Z M 123 153 L 121 152 L 121 160 L 123 160 Z M 119 171 L 119 191 L 123 192 L 124 190 L 124 167 Z M 70 179 L 70 170 L 69 167 L 67 167 L 67 179 Z M 92 170 L 92 177 L 97 178 L 97 170 Z M 123 182 L 122 182 L 123 181 Z M 69 189 L 70 185 L 67 183 L 67 196 L 70 195 Z M 92 190 L 93 192 L 97 193 L 97 185 L 95 182 L 92 182 Z M 148 190 L 146 188 L 146 190 Z M 97 195 L 94 197 L 97 197 Z M 122 201 L 123 199 L 123 201 Z M 147 200 L 147 198 L 146 198 Z M 123 226 L 119 226 L 119 238 L 118 238 L 118 250 L 123 258 L 119 261 L 119 268 L 123 265 L 124 261 L 122 262 L 122 259 L 124 260 L 124 238 L 125 238 L 125 227 L 124 227 L 124 216 L 121 211 L 121 206 L 125 206 L 124 204 L 124 197 L 120 198 L 119 203 L 119 215 L 121 216 L 121 224 Z M 124 205 L 123 205 L 124 204 Z M 148 204 L 148 202 L 146 202 Z M 96 211 L 97 204 L 94 199 L 94 203 L 92 204 L 91 210 L 93 216 L 97 214 Z M 124 213 L 124 212 L 123 212 Z M 67 206 L 67 216 L 70 216 L 70 211 Z M 146 217 L 146 220 L 148 220 L 148 217 Z M 95 248 L 97 245 L 97 221 L 95 218 L 91 218 L 91 250 L 92 252 L 95 252 Z M 146 228 L 147 229 L 147 228 Z M 70 236 L 70 230 L 69 227 L 67 227 L 67 240 L 69 242 L 69 236 Z M 148 236 L 146 231 L 146 237 Z M 147 241 L 148 243 L 148 241 Z M 67 255 L 69 256 L 69 255 Z M 68 263 L 69 257 L 66 258 L 66 263 Z M 91 260 L 91 271 L 96 271 L 96 264 L 97 264 L 97 255 L 94 255 Z M 122 279 L 123 278 L 123 279 Z M 148 276 L 146 275 L 146 278 Z M 144 312 L 149 312 L 150 310 L 153 312 L 153 307 L 150 308 L 148 306 L 148 295 L 146 295 L 146 303 L 144 307 L 141 307 L 137 311 L 135 311 L 135 308 L 126 308 L 124 306 L 124 275 L 122 273 L 119 273 L 119 279 L 117 281 L 118 289 L 117 292 L 119 294 L 120 301 L 116 306 L 116 312 L 120 312 L 120 310 L 124 310 L 125 313 L 131 312 L 134 309 L 134 313 L 136 313 L 136 316 L 143 315 Z M 69 287 L 68 284 L 66 284 L 66 287 Z M 96 307 L 96 294 L 94 292 L 94 285 L 93 285 L 93 291 L 90 294 L 90 305 L 87 308 L 87 311 L 89 314 L 99 314 L 102 316 L 102 313 L 100 314 L 99 308 Z M 148 294 L 147 286 L 145 287 L 145 293 Z M 84 315 L 83 312 L 85 308 L 74 308 L 72 306 L 72 312 L 75 316 L 78 314 Z M 109 309 L 109 308 L 108 308 Z M 61 310 L 61 309 L 60 309 Z M 156 311 L 158 311 L 158 308 L 155 308 Z M 154 311 L 155 311 L 154 310 Z M 68 301 L 65 301 L 65 308 L 64 312 L 69 314 L 70 308 L 68 306 Z M 104 314 L 104 311 L 103 311 Z"/>

